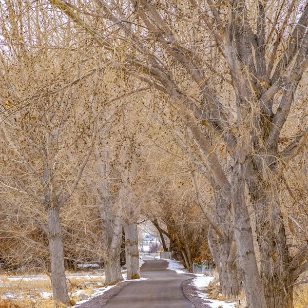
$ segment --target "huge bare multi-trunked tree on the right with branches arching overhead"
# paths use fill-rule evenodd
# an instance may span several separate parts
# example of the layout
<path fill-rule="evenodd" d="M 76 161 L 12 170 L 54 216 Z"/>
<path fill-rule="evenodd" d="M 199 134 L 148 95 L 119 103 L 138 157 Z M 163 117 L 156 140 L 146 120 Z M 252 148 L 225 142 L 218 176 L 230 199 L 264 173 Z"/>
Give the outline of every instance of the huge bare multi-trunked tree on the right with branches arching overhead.
<path fill-rule="evenodd" d="M 289 134 L 292 142 L 280 146 L 279 141 L 308 63 L 306 3 L 166 1 L 167 9 L 146 0 L 97 0 L 85 7 L 50 3 L 112 54 L 115 69 L 120 66 L 168 94 L 231 205 L 249 307 L 292 307 L 292 285 L 308 265 L 303 258 L 308 248 L 291 254 L 287 246 L 279 179 L 305 144 L 307 129 Z M 85 15 L 94 8 L 103 13 L 92 14 L 95 27 Z M 222 142 L 233 160 L 231 174 L 215 146 Z M 246 184 L 257 221 L 262 280 Z"/>

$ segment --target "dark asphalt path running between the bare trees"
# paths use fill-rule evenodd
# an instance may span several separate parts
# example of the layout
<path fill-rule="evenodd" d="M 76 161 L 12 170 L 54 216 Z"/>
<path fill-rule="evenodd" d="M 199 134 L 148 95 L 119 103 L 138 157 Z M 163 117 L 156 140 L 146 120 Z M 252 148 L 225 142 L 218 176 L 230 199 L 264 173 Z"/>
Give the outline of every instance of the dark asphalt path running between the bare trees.
<path fill-rule="evenodd" d="M 146 258 L 144 261 L 141 276 L 151 280 L 131 282 L 105 308 L 192 308 L 181 286 L 190 277 L 166 269 L 165 260 Z"/>

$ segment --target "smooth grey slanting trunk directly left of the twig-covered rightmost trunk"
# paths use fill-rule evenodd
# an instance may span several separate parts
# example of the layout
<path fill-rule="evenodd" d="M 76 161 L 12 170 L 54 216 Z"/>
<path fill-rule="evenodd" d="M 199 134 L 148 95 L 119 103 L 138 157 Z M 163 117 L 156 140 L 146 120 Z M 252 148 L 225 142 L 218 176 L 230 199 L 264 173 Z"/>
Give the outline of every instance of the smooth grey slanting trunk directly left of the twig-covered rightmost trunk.
<path fill-rule="evenodd" d="M 253 232 L 245 200 L 245 169 L 239 161 L 235 163 L 233 169 L 231 191 L 234 238 L 237 244 L 248 308 L 266 307 L 255 256 Z"/>

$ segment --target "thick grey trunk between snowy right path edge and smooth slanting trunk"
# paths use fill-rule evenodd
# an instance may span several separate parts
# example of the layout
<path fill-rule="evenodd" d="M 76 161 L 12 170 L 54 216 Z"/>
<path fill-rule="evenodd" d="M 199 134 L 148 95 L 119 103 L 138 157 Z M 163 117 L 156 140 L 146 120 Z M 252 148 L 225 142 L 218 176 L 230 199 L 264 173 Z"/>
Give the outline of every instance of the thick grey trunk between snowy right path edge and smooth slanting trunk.
<path fill-rule="evenodd" d="M 222 294 L 228 299 L 240 294 L 239 273 L 232 255 L 233 243 L 228 239 L 219 239 L 213 229 L 208 232 L 208 245 L 219 274 Z"/>

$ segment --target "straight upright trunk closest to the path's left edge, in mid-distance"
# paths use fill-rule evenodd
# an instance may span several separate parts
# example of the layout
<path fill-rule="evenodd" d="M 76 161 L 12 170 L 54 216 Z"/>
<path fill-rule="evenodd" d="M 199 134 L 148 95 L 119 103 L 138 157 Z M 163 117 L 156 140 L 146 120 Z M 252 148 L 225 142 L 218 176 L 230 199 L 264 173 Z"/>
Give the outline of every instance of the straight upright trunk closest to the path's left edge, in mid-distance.
<path fill-rule="evenodd" d="M 127 279 L 139 279 L 141 275 L 139 268 L 137 224 L 127 221 L 124 226 L 124 232 Z"/>

